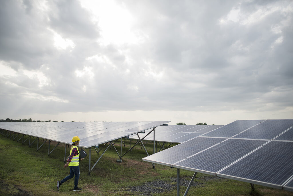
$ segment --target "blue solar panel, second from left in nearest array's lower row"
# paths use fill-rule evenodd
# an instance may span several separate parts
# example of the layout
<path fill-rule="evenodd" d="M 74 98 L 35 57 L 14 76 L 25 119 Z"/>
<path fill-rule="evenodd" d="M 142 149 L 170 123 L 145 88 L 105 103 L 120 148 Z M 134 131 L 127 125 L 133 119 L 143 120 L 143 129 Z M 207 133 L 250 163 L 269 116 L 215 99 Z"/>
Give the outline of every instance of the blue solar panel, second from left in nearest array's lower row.
<path fill-rule="evenodd" d="M 174 167 L 187 167 L 216 173 L 266 141 L 229 139 L 195 156 L 176 163 Z"/>

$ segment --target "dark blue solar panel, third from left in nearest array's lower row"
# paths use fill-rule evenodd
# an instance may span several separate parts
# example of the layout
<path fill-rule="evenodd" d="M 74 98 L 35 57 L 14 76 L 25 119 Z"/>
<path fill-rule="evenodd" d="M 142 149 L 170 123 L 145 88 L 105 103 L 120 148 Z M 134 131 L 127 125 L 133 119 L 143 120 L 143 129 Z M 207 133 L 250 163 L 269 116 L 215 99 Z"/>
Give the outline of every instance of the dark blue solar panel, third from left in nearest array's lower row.
<path fill-rule="evenodd" d="M 271 141 L 220 174 L 282 185 L 293 174 L 293 143 Z"/>

